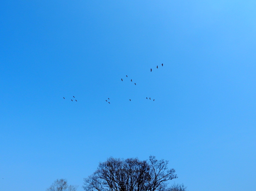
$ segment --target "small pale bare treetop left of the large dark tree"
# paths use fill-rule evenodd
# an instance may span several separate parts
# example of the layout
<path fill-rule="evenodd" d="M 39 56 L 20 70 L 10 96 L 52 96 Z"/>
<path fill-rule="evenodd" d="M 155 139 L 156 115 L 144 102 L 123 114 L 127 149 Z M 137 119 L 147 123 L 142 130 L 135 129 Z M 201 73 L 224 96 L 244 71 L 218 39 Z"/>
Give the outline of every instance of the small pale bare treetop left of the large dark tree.
<path fill-rule="evenodd" d="M 46 191 L 76 191 L 78 186 L 68 185 L 66 179 L 57 179 Z"/>

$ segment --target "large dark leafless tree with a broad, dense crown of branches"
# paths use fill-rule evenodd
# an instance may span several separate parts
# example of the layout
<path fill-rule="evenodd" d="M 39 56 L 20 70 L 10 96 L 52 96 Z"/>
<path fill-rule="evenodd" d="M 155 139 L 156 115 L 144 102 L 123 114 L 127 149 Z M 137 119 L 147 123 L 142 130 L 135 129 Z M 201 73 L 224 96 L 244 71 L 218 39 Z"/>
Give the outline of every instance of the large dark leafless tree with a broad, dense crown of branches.
<path fill-rule="evenodd" d="M 84 179 L 85 191 L 167 191 L 167 181 L 177 178 L 168 161 L 108 158 Z"/>

